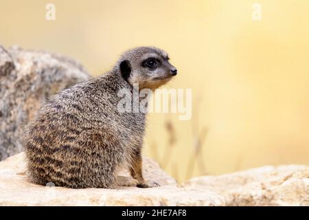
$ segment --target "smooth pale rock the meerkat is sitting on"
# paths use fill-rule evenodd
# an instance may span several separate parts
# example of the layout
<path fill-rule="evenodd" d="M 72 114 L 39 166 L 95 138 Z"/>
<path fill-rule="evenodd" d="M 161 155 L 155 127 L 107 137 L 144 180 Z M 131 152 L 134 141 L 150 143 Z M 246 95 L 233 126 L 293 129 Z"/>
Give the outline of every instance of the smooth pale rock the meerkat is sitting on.
<path fill-rule="evenodd" d="M 224 206 L 215 192 L 179 188 L 156 162 L 144 157 L 145 179 L 157 188 L 71 189 L 38 186 L 27 181 L 25 155 L 19 153 L 0 162 L 0 206 Z M 122 175 L 128 172 L 122 172 Z"/>

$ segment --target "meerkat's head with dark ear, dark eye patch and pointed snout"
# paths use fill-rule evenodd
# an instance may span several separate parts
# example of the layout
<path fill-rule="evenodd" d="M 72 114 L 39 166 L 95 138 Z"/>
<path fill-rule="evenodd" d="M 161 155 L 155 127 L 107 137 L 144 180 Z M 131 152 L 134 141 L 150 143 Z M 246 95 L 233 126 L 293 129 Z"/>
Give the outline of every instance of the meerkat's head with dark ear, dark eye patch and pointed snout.
<path fill-rule="evenodd" d="M 122 54 L 117 68 L 130 85 L 156 89 L 177 74 L 168 60 L 168 54 L 157 47 L 137 47 Z"/>

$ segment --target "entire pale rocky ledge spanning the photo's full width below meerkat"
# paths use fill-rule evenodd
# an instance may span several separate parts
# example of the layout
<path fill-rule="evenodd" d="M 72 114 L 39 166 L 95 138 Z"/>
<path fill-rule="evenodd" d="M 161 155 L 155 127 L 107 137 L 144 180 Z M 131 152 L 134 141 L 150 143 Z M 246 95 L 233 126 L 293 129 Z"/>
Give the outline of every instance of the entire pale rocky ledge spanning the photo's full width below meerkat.
<path fill-rule="evenodd" d="M 143 173 L 161 186 L 38 186 L 27 181 L 24 153 L 19 153 L 0 162 L 0 206 L 309 206 L 309 167 L 305 165 L 263 166 L 196 177 L 177 186 L 156 162 L 144 157 Z"/>

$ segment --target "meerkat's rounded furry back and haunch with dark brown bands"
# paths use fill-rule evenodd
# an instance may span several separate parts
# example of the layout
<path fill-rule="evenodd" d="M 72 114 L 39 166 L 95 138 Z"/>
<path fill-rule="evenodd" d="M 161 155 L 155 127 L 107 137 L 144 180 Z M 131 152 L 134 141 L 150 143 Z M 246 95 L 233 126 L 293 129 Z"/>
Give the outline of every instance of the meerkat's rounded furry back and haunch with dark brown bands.
<path fill-rule="evenodd" d="M 61 91 L 27 126 L 24 146 L 34 183 L 85 188 L 115 182 L 116 165 L 125 153 L 117 132 L 122 125 L 113 115 L 113 82 L 107 89 L 104 82 L 102 88 L 97 83 L 91 80 Z M 99 97 L 104 102 L 98 102 Z"/>

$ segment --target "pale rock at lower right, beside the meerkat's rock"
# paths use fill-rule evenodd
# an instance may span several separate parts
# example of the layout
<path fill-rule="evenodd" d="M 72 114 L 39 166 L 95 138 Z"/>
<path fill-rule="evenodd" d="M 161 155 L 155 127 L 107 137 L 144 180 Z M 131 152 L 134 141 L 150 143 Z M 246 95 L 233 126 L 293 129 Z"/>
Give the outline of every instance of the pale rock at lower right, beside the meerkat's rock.
<path fill-rule="evenodd" d="M 196 177 L 184 187 L 216 192 L 227 206 L 309 206 L 309 166 L 263 166 Z"/>

